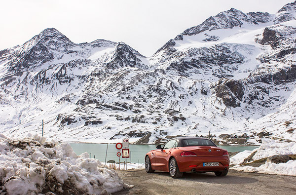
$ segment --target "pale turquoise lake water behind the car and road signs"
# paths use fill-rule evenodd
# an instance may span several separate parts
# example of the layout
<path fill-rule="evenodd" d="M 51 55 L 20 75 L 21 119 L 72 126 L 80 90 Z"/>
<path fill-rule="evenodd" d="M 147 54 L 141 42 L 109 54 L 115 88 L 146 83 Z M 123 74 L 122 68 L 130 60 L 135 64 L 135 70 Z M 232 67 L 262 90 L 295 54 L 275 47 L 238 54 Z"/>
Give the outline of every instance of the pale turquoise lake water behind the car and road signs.
<path fill-rule="evenodd" d="M 70 143 L 74 152 L 77 155 L 87 152 L 89 155 L 91 153 L 92 158 L 97 158 L 102 162 L 105 162 L 107 144 L 90 144 L 90 143 Z M 144 163 L 145 155 L 150 150 L 154 150 L 156 145 L 129 145 L 131 152 L 131 158 L 127 158 L 128 162 L 140 162 Z M 228 152 L 242 152 L 245 150 L 254 150 L 259 146 L 219 146 L 226 149 Z M 117 149 L 115 144 L 108 144 L 107 161 L 115 160 L 118 162 L 118 157 L 116 156 Z M 125 161 L 125 158 L 120 157 L 120 161 Z"/>

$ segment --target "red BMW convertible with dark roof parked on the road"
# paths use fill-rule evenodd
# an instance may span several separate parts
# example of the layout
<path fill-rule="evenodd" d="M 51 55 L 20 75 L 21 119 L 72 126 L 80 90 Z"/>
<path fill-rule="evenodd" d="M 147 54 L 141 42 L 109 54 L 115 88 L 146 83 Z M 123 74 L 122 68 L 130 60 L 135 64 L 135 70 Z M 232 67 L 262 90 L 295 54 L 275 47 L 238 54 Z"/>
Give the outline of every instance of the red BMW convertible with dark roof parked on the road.
<path fill-rule="evenodd" d="M 228 173 L 228 152 L 209 139 L 177 137 L 156 148 L 145 157 L 147 173 L 166 171 L 173 178 L 182 177 L 183 172 L 214 172 L 217 176 Z"/>

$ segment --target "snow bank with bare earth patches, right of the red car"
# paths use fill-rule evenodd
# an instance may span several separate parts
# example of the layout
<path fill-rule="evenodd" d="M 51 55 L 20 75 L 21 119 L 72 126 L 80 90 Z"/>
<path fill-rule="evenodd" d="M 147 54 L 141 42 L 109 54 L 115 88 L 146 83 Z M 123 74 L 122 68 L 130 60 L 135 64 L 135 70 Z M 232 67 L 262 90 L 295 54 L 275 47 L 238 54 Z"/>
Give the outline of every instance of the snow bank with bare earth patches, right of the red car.
<path fill-rule="evenodd" d="M 265 174 L 296 176 L 296 160 L 289 160 L 285 163 L 274 163 L 269 161 L 259 167 L 243 165 L 244 163 L 256 162 L 267 157 L 277 155 L 295 155 L 296 142 L 281 142 L 279 140 L 262 139 L 259 148 L 253 151 L 243 151 L 230 158 L 230 164 L 235 165 L 231 169 L 245 172 L 259 172 Z M 252 164 L 251 164 L 252 165 Z"/>

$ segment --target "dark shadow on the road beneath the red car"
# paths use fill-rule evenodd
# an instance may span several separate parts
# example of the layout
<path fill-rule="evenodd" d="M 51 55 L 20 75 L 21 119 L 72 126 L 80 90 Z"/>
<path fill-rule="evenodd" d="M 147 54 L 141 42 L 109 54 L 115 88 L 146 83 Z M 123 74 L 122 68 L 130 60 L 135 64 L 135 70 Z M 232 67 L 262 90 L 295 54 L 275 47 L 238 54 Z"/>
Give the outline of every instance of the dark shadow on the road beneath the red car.
<path fill-rule="evenodd" d="M 158 174 L 162 176 L 171 177 L 167 172 L 155 172 L 153 174 Z M 255 178 L 256 175 L 253 177 L 241 177 L 241 176 L 233 176 L 228 173 L 225 177 L 217 177 L 214 173 L 184 173 L 180 180 L 186 181 L 197 181 L 203 183 L 215 183 L 215 184 L 250 184 L 256 183 L 258 179 Z"/>

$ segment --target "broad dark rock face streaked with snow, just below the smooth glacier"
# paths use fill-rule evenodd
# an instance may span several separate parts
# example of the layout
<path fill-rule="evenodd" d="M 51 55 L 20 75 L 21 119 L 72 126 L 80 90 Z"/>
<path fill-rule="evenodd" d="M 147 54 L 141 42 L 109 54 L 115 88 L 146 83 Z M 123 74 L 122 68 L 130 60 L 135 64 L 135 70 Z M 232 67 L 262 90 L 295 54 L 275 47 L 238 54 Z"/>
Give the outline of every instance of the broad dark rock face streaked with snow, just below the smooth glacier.
<path fill-rule="evenodd" d="M 153 56 L 157 63 L 152 67 L 161 67 L 168 72 L 181 76 L 210 74 L 215 79 L 230 78 L 243 58 L 238 54 L 242 45 L 217 44 L 210 47 L 188 48 L 174 53 L 164 52 Z"/>

